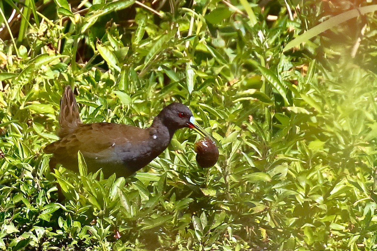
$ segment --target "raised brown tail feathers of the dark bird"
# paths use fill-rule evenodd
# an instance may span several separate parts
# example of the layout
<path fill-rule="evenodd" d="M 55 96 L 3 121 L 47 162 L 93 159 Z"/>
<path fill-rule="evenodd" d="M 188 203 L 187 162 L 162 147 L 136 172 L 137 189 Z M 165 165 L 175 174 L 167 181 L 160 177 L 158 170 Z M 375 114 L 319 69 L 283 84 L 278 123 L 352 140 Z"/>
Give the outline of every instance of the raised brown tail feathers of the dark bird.
<path fill-rule="evenodd" d="M 60 130 L 58 136 L 62 138 L 65 135 L 68 135 L 81 123 L 75 95 L 73 94 L 71 87 L 67 85 L 60 100 Z"/>

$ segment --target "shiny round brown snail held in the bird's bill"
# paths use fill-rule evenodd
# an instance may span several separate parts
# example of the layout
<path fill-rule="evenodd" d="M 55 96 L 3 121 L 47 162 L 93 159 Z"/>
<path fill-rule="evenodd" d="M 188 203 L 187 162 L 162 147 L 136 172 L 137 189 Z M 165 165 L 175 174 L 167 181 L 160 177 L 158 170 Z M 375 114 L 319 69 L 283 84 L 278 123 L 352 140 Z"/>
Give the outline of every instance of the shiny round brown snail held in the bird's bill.
<path fill-rule="evenodd" d="M 219 158 L 219 149 L 209 137 L 201 138 L 194 145 L 196 162 L 201 167 L 214 166 Z"/>

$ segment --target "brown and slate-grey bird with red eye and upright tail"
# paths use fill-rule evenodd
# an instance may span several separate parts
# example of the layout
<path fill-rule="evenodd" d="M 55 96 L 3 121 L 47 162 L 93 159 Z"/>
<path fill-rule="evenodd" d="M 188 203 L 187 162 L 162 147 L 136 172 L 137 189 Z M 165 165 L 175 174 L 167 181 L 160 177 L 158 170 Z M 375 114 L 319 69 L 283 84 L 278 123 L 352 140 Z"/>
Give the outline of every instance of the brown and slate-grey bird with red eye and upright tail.
<path fill-rule="evenodd" d="M 51 169 L 61 164 L 78 171 L 78 151 L 84 157 L 88 172 L 102 168 L 105 178 L 130 176 L 149 164 L 169 145 L 173 134 L 181 128 L 203 132 L 196 125 L 190 109 L 182 103 L 165 106 L 149 128 L 118 123 L 82 123 L 78 105 L 70 85 L 64 88 L 60 100 L 60 138 L 44 148 L 52 154 Z"/>

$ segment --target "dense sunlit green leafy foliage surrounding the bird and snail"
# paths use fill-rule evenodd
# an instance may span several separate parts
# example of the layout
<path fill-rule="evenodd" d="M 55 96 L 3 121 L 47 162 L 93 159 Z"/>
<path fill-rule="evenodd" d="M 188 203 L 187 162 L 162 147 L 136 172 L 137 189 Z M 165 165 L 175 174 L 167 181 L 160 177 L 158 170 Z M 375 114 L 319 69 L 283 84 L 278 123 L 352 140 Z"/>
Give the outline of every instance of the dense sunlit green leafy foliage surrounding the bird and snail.
<path fill-rule="evenodd" d="M 78 2 L 0 2 L 1 250 L 377 249 L 371 1 Z M 84 123 L 188 105 L 218 164 L 198 167 L 181 129 L 126 179 L 51 172 L 66 85 Z"/>

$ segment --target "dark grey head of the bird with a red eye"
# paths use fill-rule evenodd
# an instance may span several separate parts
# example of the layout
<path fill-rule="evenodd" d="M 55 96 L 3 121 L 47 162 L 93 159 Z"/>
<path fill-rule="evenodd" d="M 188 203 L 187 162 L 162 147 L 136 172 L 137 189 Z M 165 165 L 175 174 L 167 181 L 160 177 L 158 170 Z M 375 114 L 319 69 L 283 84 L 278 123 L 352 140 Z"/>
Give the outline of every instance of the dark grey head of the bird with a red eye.
<path fill-rule="evenodd" d="M 194 117 L 190 109 L 181 103 L 171 103 L 158 114 L 162 123 L 168 128 L 177 130 L 179 128 L 194 128 Z"/>

